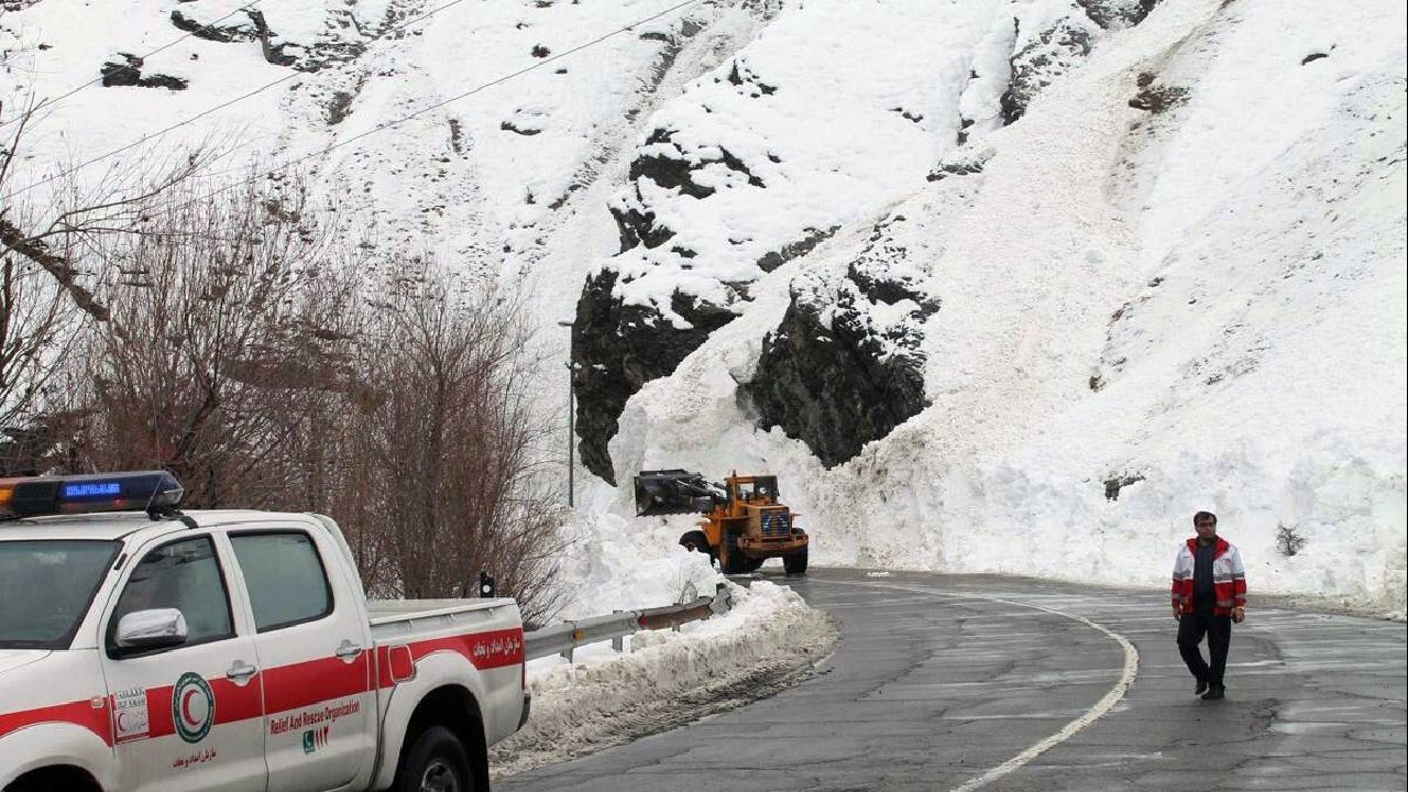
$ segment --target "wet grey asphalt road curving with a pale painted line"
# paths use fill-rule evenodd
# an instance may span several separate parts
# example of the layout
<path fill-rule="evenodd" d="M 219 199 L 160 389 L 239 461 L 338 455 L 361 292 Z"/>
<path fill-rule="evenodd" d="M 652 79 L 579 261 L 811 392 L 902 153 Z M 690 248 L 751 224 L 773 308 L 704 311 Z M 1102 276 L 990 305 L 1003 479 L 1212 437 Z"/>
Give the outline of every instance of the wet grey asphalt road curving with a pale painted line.
<path fill-rule="evenodd" d="M 1404 623 L 1259 609 L 1253 592 L 1228 698 L 1204 702 L 1159 592 L 777 572 L 841 621 L 814 678 L 496 791 L 1408 788 Z"/>

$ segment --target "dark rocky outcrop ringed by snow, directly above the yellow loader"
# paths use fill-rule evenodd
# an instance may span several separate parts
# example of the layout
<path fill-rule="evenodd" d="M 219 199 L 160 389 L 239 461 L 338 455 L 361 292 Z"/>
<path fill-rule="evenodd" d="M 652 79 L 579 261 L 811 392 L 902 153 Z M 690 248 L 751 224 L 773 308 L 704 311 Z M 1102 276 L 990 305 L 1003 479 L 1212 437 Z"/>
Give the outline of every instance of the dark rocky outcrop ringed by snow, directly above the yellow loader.
<path fill-rule="evenodd" d="M 895 273 L 907 254 L 881 225 L 839 283 L 794 285 L 781 323 L 763 338 L 756 375 L 742 386 L 763 428 L 781 427 L 828 468 L 928 406 L 921 324 L 939 302 Z M 890 310 L 874 311 L 881 303 Z"/>

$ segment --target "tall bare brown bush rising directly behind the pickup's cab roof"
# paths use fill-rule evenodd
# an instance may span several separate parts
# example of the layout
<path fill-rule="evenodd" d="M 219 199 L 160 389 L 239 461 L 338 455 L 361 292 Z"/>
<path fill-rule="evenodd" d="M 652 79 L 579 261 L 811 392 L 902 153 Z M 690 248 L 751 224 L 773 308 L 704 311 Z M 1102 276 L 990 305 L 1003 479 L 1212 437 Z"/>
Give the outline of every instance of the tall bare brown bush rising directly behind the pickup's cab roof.
<path fill-rule="evenodd" d="M 80 452 L 99 469 L 163 466 L 187 503 L 283 506 L 290 443 L 346 371 L 352 335 L 320 321 L 355 286 L 325 266 L 331 240 L 294 183 L 266 199 L 255 179 L 191 194 L 168 189 L 142 233 L 106 240 L 111 306 L 89 349 Z"/>

